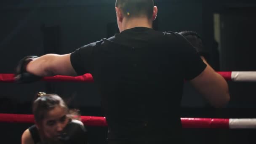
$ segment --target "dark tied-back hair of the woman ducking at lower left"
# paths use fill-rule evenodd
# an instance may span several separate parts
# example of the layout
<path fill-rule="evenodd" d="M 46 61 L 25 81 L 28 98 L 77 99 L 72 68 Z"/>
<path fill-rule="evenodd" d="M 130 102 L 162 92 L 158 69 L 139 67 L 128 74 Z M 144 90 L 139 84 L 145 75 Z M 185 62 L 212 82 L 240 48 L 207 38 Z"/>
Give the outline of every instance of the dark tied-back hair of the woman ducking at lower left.
<path fill-rule="evenodd" d="M 43 92 L 37 93 L 35 100 L 32 104 L 32 111 L 35 117 L 35 122 L 40 123 L 44 118 L 47 112 L 54 109 L 55 107 L 63 107 L 67 110 L 70 119 L 79 119 L 77 110 L 69 110 L 65 101 L 58 96 L 57 94 L 46 94 Z"/>

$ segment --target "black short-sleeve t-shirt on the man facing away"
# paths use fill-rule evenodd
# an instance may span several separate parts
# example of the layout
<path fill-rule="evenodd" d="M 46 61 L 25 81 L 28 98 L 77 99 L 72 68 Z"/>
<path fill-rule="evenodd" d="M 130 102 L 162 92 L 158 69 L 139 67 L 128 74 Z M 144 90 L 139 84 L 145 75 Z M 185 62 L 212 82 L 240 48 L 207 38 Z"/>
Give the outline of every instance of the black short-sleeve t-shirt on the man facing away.
<path fill-rule="evenodd" d="M 93 75 L 109 126 L 109 144 L 179 139 L 184 80 L 192 80 L 206 67 L 183 36 L 146 27 L 78 48 L 71 63 L 78 75 Z"/>

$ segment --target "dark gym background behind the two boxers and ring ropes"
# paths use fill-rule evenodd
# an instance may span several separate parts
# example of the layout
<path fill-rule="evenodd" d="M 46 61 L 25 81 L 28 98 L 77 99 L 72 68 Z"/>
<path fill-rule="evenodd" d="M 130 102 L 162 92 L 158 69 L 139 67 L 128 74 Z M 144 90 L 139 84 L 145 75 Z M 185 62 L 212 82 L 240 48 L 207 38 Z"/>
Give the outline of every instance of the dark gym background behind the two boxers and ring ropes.
<path fill-rule="evenodd" d="M 155 0 L 154 29 L 198 32 L 216 71 L 255 71 L 255 0 Z M 117 33 L 115 0 L 1 0 L 0 73 L 13 73 L 27 55 L 65 54 Z M 256 83 L 229 82 L 231 101 L 214 109 L 186 84 L 181 117 L 256 118 Z M 104 116 L 93 83 L 0 83 L 0 113 L 31 114 L 37 91 L 53 92 L 82 115 Z M 156 96 L 157 99 L 157 96 Z M 31 124 L 0 123 L 0 139 L 20 143 Z M 107 128 L 88 127 L 90 144 L 104 144 Z M 197 144 L 252 144 L 256 130 L 184 129 Z M 2 143 L 2 142 L 1 142 Z"/>

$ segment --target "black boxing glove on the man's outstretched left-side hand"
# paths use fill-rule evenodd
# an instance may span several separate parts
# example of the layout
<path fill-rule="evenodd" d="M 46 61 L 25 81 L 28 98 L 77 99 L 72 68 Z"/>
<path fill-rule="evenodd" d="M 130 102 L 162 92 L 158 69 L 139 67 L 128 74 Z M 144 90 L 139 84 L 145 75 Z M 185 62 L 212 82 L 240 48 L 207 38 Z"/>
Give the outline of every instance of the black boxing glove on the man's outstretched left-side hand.
<path fill-rule="evenodd" d="M 19 61 L 14 72 L 14 80 L 17 83 L 32 83 L 42 79 L 42 77 L 33 75 L 26 70 L 27 64 L 35 58 L 38 58 L 38 56 L 26 56 Z"/>

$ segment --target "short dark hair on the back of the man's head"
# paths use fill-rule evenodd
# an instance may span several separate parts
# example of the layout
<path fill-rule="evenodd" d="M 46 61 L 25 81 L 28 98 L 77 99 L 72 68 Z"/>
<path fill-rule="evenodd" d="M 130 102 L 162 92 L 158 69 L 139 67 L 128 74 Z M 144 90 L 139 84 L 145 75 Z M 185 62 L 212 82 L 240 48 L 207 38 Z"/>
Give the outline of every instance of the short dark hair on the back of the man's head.
<path fill-rule="evenodd" d="M 151 19 L 154 0 L 116 0 L 115 6 L 121 9 L 125 17 L 147 16 Z"/>

